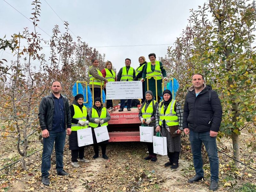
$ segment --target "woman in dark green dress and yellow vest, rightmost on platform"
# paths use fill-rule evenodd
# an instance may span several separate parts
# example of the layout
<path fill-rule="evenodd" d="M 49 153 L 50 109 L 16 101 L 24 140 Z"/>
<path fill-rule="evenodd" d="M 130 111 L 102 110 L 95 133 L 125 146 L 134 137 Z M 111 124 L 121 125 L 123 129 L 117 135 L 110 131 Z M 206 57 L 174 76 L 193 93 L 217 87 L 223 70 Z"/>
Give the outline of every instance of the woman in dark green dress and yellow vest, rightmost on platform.
<path fill-rule="evenodd" d="M 160 61 L 156 61 L 156 54 L 150 53 L 148 55 L 150 62 L 147 63 L 144 71 L 142 73 L 142 79 L 140 81 L 145 81 L 145 91 L 150 90 L 156 96 L 156 101 L 160 102 L 160 96 L 162 94 L 162 75 L 164 76 L 164 80 L 167 81 L 166 71 L 164 69 L 163 64 Z M 156 76 L 156 77 L 150 77 Z M 147 79 L 148 78 L 148 86 Z M 156 80 L 157 80 L 157 90 L 156 90 Z"/>

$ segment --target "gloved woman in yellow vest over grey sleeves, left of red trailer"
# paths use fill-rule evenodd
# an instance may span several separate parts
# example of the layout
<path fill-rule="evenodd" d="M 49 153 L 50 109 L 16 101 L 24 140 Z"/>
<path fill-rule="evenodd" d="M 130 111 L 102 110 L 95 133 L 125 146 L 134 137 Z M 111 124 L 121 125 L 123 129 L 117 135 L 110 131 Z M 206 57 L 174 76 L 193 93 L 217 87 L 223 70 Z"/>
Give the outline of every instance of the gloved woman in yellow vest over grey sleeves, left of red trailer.
<path fill-rule="evenodd" d="M 106 155 L 106 147 L 108 144 L 108 140 L 102 141 L 100 143 L 97 143 L 95 132 L 93 128 L 108 125 L 108 121 L 110 120 L 110 115 L 108 113 L 107 108 L 103 107 L 101 104 L 101 99 L 99 97 L 94 99 L 94 105 L 90 109 L 88 116 L 90 118 L 89 120 L 89 126 L 92 127 L 92 138 L 93 138 L 93 149 L 95 155 L 92 157 L 93 159 L 96 159 L 99 157 L 99 145 L 101 146 L 102 151 L 102 158 L 108 159 L 108 156 Z"/>

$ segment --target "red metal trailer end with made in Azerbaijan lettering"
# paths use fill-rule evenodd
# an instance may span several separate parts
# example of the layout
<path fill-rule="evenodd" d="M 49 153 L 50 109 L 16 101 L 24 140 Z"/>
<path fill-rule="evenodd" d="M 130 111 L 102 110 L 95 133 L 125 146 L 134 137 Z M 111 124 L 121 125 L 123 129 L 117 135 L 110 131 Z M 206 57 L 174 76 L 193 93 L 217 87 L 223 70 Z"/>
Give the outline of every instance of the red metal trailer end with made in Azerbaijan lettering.
<path fill-rule="evenodd" d="M 139 106 L 140 107 L 140 106 Z M 109 142 L 140 141 L 139 109 L 119 112 L 115 106 L 114 111 L 109 111 L 111 119 L 108 121 Z"/>

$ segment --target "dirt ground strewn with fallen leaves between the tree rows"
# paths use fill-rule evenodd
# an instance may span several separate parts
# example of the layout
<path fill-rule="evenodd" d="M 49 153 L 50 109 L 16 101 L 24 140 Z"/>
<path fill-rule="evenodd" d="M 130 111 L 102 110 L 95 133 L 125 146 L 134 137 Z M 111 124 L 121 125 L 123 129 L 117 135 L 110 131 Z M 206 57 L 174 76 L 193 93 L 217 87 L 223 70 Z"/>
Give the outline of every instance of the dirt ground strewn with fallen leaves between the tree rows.
<path fill-rule="evenodd" d="M 3 140 L 1 142 L 10 140 Z M 108 160 L 99 157 L 92 159 L 94 155 L 93 147 L 85 148 L 85 158 L 89 163 L 78 164 L 80 167 L 73 168 L 71 154 L 66 142 L 64 151 L 64 170 L 69 172 L 69 176 L 58 176 L 55 170 L 55 157 L 52 157 L 52 168 L 50 170 L 50 186 L 41 183 L 41 155 L 42 151 L 27 158 L 28 171 L 21 171 L 20 163 L 1 171 L 0 191 L 209 191 L 210 170 L 206 161 L 204 165 L 206 180 L 190 184 L 187 180 L 195 175 L 193 170 L 192 155 L 187 137 L 182 137 L 182 153 L 180 155 L 179 167 L 171 170 L 164 167 L 168 161 L 167 156 L 157 156 L 156 162 L 146 161 L 147 148 L 143 142 L 118 142 L 109 143 L 107 146 Z M 230 147 L 228 140 L 219 142 L 222 148 L 225 145 Z M 30 147 L 37 151 L 42 148 L 38 140 L 30 142 Z M 0 149 L 1 167 L 8 162 L 10 157 L 15 157 L 15 145 L 6 146 L 7 150 Z M 244 150 L 244 148 L 241 148 Z M 8 153 L 9 152 L 9 153 Z M 227 182 L 241 184 L 244 182 L 255 183 L 255 172 L 246 170 L 248 177 L 234 179 L 235 173 L 228 168 L 230 159 L 219 154 L 220 157 L 220 181 L 218 191 L 229 191 L 230 187 L 224 187 Z M 253 154 L 255 162 L 255 153 Z M 6 160 L 7 159 L 7 160 Z M 2 161 L 3 160 L 3 161 Z M 226 169 L 227 168 L 227 169 Z M 224 171 L 224 172 L 223 172 Z M 242 172 L 243 170 L 238 170 Z"/>

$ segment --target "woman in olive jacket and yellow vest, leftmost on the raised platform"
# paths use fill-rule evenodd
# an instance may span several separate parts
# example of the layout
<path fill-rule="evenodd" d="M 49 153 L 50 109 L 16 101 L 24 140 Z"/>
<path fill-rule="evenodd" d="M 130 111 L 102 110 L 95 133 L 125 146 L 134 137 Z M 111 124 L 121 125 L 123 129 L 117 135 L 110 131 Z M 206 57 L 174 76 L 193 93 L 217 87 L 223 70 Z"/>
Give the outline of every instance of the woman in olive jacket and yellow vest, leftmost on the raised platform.
<path fill-rule="evenodd" d="M 108 82 L 106 78 L 102 76 L 102 73 L 100 72 L 99 68 L 99 61 L 97 59 L 92 59 L 92 66 L 88 70 L 90 83 L 89 86 L 92 91 L 92 80 L 93 80 L 93 94 L 94 99 L 96 97 L 101 97 L 101 91 L 100 91 L 100 84 L 102 85 L 102 89 L 104 84 L 102 82 Z"/>

